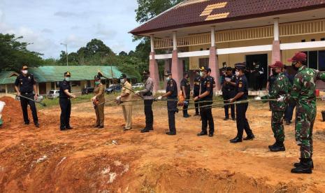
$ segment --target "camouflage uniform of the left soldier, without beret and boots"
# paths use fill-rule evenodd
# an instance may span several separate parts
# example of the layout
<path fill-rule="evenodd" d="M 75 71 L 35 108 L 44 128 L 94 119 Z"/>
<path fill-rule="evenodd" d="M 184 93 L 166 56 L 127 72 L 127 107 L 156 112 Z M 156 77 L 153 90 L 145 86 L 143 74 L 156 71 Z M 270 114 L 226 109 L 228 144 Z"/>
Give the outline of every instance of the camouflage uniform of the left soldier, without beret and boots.
<path fill-rule="evenodd" d="M 291 90 L 289 79 L 284 73 L 279 73 L 275 77 L 275 81 L 271 87 L 268 95 L 263 96 L 262 99 L 278 99 L 281 95 L 287 96 Z M 270 106 L 272 109 L 271 127 L 276 141 L 284 142 L 284 127 L 283 116 L 287 108 L 287 102 L 271 101 Z"/>

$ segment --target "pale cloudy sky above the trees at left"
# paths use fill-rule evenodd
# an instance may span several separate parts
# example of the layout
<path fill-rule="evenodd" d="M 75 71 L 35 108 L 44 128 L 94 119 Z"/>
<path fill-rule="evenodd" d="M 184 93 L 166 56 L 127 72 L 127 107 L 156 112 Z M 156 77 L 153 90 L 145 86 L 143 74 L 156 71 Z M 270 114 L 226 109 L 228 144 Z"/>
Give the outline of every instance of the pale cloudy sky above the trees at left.
<path fill-rule="evenodd" d="M 136 8 L 136 0 L 0 0 L 0 33 L 24 36 L 44 58 L 58 58 L 60 43 L 75 52 L 92 38 L 129 52 L 138 44 L 128 34 L 138 26 Z"/>

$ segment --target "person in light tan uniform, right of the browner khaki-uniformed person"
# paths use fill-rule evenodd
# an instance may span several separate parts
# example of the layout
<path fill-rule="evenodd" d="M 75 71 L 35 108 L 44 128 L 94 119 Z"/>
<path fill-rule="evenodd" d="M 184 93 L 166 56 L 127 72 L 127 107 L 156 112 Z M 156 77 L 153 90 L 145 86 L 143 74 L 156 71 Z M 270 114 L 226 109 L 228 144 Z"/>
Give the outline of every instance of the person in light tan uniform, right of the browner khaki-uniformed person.
<path fill-rule="evenodd" d="M 127 75 L 122 73 L 121 77 L 122 92 L 120 96 L 117 96 L 118 103 L 122 102 L 123 116 L 125 120 L 124 131 L 132 129 L 132 102 L 131 102 L 131 84 L 127 81 Z"/>

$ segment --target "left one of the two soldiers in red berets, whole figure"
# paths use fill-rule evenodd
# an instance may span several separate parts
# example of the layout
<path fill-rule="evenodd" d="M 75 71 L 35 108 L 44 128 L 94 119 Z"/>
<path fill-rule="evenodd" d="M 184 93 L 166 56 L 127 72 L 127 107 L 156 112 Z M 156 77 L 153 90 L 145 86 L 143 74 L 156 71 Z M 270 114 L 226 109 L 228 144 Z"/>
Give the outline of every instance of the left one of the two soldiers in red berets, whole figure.
<path fill-rule="evenodd" d="M 291 90 L 291 84 L 289 79 L 283 73 L 282 62 L 275 62 L 273 65 L 269 65 L 272 69 L 275 81 L 272 84 L 271 90 L 266 96 L 262 96 L 262 99 L 278 99 L 280 96 L 286 96 Z M 275 143 L 269 145 L 268 148 L 271 152 L 285 151 L 284 147 L 284 127 L 283 127 L 283 116 L 287 108 L 287 102 L 270 102 L 272 110 L 271 127 L 275 137 Z"/>

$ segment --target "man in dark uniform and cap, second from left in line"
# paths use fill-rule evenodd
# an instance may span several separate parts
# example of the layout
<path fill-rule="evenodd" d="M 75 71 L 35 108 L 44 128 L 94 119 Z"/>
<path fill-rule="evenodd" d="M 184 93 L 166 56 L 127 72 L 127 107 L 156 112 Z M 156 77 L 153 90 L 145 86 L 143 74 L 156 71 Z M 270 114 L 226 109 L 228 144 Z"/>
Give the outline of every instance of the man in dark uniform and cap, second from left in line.
<path fill-rule="evenodd" d="M 73 129 L 70 126 L 70 114 L 71 114 L 71 101 L 70 99 L 75 99 L 76 96 L 71 94 L 71 85 L 70 85 L 71 73 L 64 73 L 64 80 L 60 83 L 60 94 L 59 94 L 59 103 L 61 108 L 60 116 L 60 130 L 64 131 L 67 129 Z"/>

